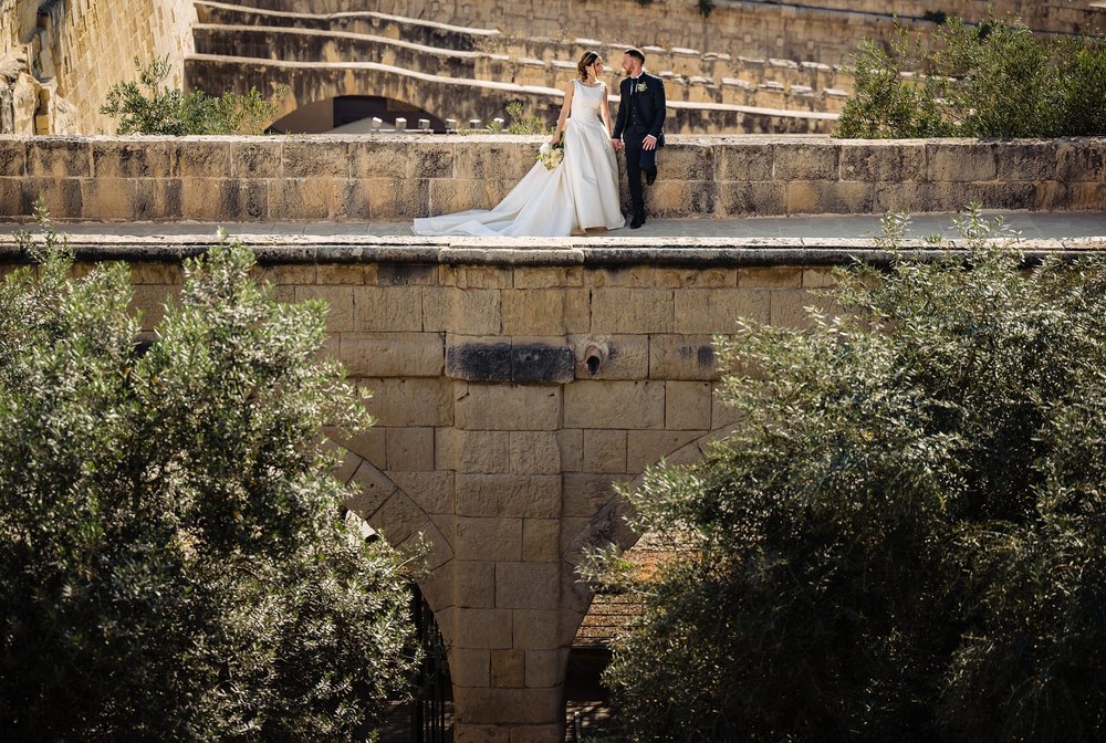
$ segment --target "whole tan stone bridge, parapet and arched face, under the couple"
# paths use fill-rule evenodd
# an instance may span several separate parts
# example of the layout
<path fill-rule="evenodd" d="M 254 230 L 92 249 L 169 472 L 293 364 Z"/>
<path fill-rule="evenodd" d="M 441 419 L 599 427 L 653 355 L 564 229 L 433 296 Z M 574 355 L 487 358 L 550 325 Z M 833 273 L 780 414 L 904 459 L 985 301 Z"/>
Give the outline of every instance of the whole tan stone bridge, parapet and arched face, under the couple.
<path fill-rule="evenodd" d="M 25 219 L 42 196 L 59 217 L 103 222 L 103 234 L 71 244 L 85 262 L 131 262 L 149 329 L 179 291 L 182 257 L 204 250 L 213 223 L 248 231 L 276 218 L 445 210 L 462 205 L 436 192 L 490 174 L 514 177 L 531 149 L 525 139 L 477 137 L 0 137 L 0 219 Z M 789 205 L 868 212 L 880 189 L 904 185 L 895 198 L 930 207 L 916 211 L 967 195 L 1004 208 L 1100 211 L 1106 201 L 1102 139 L 773 138 L 670 149 L 665 177 L 674 188 L 696 184 L 710 195 L 692 199 L 698 216 L 742 203 L 719 196 L 731 190 L 761 192 L 776 213 Z M 349 211 L 352 193 L 374 206 Z M 112 234 L 112 220 L 135 219 L 170 222 L 169 237 Z M 206 220 L 191 230 L 204 234 L 180 236 L 175 222 L 187 219 Z M 592 600 L 576 565 L 588 545 L 637 538 L 614 484 L 661 460 L 698 459 L 732 422 L 713 394 L 712 336 L 731 333 L 738 317 L 802 327 L 803 307 L 818 301 L 813 292 L 833 265 L 887 258 L 868 252 L 866 240 L 303 229 L 315 237 L 247 242 L 279 299 L 330 304 L 327 352 L 374 391 L 376 427 L 355 438 L 332 432 L 338 475 L 356 489 L 349 507 L 390 543 L 432 545 L 421 587 L 448 645 L 458 743 L 563 740 L 568 650 Z M 0 240 L 0 270 L 19 260 L 11 240 Z"/>

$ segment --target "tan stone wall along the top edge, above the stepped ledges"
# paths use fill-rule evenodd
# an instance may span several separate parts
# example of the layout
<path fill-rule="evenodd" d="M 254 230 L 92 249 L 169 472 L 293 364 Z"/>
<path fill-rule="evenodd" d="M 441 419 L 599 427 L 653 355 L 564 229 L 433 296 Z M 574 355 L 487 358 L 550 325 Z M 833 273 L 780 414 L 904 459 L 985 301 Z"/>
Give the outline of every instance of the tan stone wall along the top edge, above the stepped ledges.
<path fill-rule="evenodd" d="M 891 31 L 890 7 L 879 0 L 810 0 L 789 4 L 716 0 L 709 18 L 695 0 L 236 0 L 236 4 L 304 13 L 357 12 L 365 10 L 457 25 L 499 29 L 510 36 L 546 36 L 559 40 L 596 39 L 604 43 L 638 46 L 690 48 L 703 52 L 782 56 L 797 61 L 841 64 L 856 50 L 862 38 L 881 39 Z M 910 31 L 936 25 L 927 12 L 961 14 L 970 20 L 988 17 L 987 8 L 1019 12 L 1035 29 L 1057 32 L 1085 31 L 1094 19 L 1103 19 L 1086 3 L 1066 0 L 983 0 L 935 2 L 915 0 L 896 3 L 899 21 Z M 1106 23 L 1099 23 L 1106 25 Z"/>

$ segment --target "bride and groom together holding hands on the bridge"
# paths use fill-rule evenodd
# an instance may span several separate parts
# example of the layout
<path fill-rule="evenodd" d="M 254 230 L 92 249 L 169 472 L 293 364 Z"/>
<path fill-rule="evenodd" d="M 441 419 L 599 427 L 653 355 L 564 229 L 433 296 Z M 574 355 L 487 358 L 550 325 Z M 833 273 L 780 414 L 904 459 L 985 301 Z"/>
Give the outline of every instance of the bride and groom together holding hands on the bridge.
<path fill-rule="evenodd" d="M 417 234 L 565 237 L 574 231 L 625 224 L 618 193 L 616 151 L 626 156 L 633 214 L 630 229 L 645 223 L 643 176 L 657 177 L 657 149 L 665 144 L 665 85 L 643 70 L 645 54 L 627 49 L 622 69 L 618 114 L 612 124 L 607 86 L 599 74 L 603 59 L 585 52 L 576 79 L 565 88 L 556 130 L 550 140 L 564 146 L 563 161 L 552 169 L 531 168 L 491 210 L 416 219 Z"/>

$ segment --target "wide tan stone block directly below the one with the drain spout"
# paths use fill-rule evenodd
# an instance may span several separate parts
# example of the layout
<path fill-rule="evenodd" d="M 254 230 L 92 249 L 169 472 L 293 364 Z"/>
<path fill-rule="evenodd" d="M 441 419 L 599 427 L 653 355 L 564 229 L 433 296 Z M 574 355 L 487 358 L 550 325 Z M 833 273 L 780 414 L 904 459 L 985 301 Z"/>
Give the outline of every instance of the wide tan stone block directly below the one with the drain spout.
<path fill-rule="evenodd" d="M 564 390 L 564 426 L 664 428 L 664 384 L 577 380 Z"/>

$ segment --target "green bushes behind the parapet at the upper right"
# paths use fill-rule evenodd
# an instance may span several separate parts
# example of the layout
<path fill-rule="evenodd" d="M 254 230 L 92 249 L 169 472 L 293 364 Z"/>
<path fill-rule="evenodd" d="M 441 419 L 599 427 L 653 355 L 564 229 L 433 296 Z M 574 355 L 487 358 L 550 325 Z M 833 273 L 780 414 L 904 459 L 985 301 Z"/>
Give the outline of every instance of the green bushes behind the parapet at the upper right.
<path fill-rule="evenodd" d="M 1013 20 L 949 20 L 922 51 L 898 30 L 862 43 L 841 137 L 1060 137 L 1106 134 L 1106 43 L 1039 36 Z M 919 81 L 905 71 L 928 71 Z"/>

